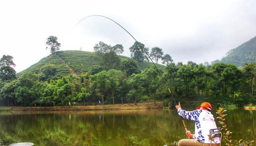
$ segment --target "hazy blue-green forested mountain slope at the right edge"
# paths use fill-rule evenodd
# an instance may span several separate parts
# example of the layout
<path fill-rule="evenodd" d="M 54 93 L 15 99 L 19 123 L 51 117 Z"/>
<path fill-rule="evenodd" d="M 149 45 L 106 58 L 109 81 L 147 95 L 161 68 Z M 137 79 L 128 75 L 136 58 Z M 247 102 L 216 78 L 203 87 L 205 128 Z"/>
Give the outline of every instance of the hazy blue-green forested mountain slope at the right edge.
<path fill-rule="evenodd" d="M 223 62 L 227 64 L 235 64 L 244 66 L 245 62 L 256 62 L 256 37 L 243 43 L 235 49 L 231 49 L 221 60 L 212 61 L 211 64 Z"/>

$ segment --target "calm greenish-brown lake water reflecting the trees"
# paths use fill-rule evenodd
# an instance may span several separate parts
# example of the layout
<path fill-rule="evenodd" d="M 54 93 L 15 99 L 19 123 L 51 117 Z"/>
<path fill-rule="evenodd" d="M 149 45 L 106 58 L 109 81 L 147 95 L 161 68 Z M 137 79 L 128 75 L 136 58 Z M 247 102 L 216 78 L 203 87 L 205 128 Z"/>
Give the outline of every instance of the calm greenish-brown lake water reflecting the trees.
<path fill-rule="evenodd" d="M 228 109 L 227 114 L 234 139 L 256 141 L 256 111 Z M 185 123 L 194 132 L 194 122 Z M 182 138 L 186 135 L 181 118 L 170 110 L 0 113 L 0 143 L 4 146 L 16 142 L 33 142 L 35 146 L 170 146 Z"/>

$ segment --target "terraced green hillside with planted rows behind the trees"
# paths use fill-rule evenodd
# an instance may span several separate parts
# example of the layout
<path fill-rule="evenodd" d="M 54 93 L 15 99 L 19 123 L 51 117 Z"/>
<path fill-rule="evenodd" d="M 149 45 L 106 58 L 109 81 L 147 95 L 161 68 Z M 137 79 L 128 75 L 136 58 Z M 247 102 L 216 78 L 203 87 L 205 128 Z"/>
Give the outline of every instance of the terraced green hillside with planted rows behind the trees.
<path fill-rule="evenodd" d="M 119 55 L 121 59 L 126 59 L 129 57 Z M 29 68 L 17 73 L 17 76 L 21 76 L 25 72 L 40 73 L 42 66 L 47 64 L 54 64 L 57 68 L 57 76 L 66 76 L 70 74 L 82 74 L 87 73 L 94 65 L 99 65 L 100 55 L 95 52 L 88 51 L 56 51 L 55 53 L 42 58 L 36 64 L 31 65 Z M 139 63 L 141 70 L 149 68 L 152 62 Z M 160 69 L 164 68 L 164 65 L 157 64 Z"/>

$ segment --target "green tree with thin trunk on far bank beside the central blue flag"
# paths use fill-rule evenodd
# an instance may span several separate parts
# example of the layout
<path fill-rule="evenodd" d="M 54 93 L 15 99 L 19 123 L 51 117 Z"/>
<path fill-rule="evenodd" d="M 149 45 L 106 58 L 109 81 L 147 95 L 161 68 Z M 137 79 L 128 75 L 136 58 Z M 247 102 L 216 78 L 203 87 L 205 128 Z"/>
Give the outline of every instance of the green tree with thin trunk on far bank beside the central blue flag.
<path fill-rule="evenodd" d="M 110 81 L 108 80 L 108 74 L 105 70 L 94 74 L 90 78 L 90 87 L 96 90 L 98 96 L 102 98 L 102 103 L 104 105 L 104 96 L 107 94 L 110 88 Z"/>

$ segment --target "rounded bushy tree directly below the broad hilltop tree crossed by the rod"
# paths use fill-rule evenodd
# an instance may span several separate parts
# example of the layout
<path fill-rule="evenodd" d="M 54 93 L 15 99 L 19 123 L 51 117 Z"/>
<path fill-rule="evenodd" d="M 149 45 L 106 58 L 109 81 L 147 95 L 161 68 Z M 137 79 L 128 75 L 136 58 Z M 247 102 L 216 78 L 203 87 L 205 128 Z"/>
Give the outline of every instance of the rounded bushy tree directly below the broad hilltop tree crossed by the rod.
<path fill-rule="evenodd" d="M 126 72 L 126 76 L 129 77 L 131 74 L 135 73 L 138 74 L 140 73 L 140 68 L 137 62 L 133 59 L 124 59 L 121 62 L 121 70 L 123 72 Z"/>

